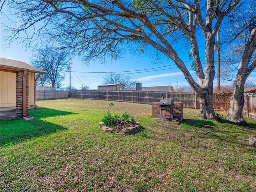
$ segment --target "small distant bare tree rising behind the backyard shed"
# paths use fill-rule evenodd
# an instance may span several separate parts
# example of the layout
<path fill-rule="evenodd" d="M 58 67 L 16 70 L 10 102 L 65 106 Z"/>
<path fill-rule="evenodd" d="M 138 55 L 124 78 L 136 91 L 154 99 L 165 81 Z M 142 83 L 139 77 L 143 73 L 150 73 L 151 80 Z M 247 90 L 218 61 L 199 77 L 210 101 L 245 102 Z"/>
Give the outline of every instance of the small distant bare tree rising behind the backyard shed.
<path fill-rule="evenodd" d="M 120 83 L 125 88 L 132 88 L 136 85 L 136 80 L 133 80 L 129 75 L 122 75 L 120 73 L 110 72 L 103 77 L 103 84 L 116 84 Z"/>

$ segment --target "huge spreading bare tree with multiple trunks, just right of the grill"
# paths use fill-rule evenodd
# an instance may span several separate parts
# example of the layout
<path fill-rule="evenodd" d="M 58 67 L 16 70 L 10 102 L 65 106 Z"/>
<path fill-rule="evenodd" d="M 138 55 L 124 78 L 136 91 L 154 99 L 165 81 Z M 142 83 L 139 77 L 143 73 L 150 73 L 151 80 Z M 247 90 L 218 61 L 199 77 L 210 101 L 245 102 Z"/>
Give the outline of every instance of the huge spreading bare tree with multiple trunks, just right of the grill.
<path fill-rule="evenodd" d="M 162 53 L 174 61 L 198 94 L 199 118 L 218 122 L 212 95 L 215 37 L 223 20 L 238 8 L 238 4 L 238 0 L 13 0 L 10 7 L 15 16 L 21 18 L 21 24 L 18 28 L 9 28 L 9 32 L 13 32 L 9 40 L 16 40 L 21 32 L 44 21 L 45 25 L 35 28 L 31 38 L 26 36 L 25 44 L 44 34 L 49 42 L 58 42 L 62 48 L 78 54 L 85 53 L 86 61 L 95 57 L 103 61 L 117 59 L 124 46 L 136 48 L 135 53 L 144 52 L 144 49 L 155 51 L 155 55 Z M 199 49 L 201 35 L 204 53 Z M 181 48 L 190 50 L 197 80 L 182 60 Z M 200 54 L 205 55 L 204 69 Z"/>

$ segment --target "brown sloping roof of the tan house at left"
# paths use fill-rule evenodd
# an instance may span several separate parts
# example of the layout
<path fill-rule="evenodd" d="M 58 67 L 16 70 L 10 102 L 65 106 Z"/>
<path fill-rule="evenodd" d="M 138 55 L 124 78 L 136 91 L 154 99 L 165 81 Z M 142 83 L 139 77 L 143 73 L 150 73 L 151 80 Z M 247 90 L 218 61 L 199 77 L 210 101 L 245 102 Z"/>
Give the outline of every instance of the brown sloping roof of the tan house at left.
<path fill-rule="evenodd" d="M 0 58 L 0 67 L 6 70 L 28 70 L 28 72 L 46 74 L 45 71 L 33 67 L 30 64 L 6 58 Z"/>

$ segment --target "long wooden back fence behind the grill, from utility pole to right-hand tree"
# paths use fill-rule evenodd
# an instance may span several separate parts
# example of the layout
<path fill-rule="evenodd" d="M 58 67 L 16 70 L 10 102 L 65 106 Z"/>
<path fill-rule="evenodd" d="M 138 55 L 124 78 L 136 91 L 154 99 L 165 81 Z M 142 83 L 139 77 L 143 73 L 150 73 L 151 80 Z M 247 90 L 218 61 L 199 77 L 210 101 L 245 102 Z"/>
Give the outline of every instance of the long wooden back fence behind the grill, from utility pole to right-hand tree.
<path fill-rule="evenodd" d="M 156 91 L 70 91 L 70 98 L 99 99 L 108 101 L 121 101 L 132 103 L 152 104 L 162 98 L 182 102 L 185 108 L 200 109 L 199 98 L 194 93 L 173 93 Z M 214 109 L 229 109 L 229 94 L 214 94 Z"/>

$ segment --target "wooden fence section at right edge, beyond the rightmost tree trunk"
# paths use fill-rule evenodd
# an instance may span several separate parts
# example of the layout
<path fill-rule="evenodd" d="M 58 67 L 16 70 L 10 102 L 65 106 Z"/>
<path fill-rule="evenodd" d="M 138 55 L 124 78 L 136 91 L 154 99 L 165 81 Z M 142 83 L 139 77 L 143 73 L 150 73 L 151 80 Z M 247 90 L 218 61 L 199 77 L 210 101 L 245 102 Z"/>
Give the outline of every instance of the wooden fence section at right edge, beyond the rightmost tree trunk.
<path fill-rule="evenodd" d="M 244 94 L 244 115 L 256 119 L 256 93 Z"/>

